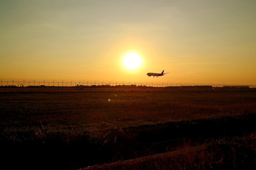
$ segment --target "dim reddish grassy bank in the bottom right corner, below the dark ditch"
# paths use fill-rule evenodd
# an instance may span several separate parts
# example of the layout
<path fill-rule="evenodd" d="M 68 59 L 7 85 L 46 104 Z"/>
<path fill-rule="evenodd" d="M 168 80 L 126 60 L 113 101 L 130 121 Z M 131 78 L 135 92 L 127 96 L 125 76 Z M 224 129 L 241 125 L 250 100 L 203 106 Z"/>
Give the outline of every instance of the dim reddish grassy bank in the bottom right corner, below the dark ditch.
<path fill-rule="evenodd" d="M 239 141 L 239 142 L 238 142 Z M 137 159 L 88 166 L 79 170 L 241 170 L 256 168 L 256 133 L 221 139 Z"/>

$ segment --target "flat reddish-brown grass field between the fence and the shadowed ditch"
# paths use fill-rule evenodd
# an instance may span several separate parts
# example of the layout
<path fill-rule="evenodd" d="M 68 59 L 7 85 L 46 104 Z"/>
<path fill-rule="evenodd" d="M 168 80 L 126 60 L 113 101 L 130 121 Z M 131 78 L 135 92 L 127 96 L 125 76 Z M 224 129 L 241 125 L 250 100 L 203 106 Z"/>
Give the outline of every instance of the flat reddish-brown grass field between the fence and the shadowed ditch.
<path fill-rule="evenodd" d="M 256 113 L 255 91 L 2 93 L 5 130 L 98 133 L 143 124 Z M 110 102 L 108 101 L 110 99 Z M 10 119 L 11 117 L 11 119 Z M 21 119 L 25 117 L 25 119 Z M 2 129 L 2 130 L 4 130 Z"/>

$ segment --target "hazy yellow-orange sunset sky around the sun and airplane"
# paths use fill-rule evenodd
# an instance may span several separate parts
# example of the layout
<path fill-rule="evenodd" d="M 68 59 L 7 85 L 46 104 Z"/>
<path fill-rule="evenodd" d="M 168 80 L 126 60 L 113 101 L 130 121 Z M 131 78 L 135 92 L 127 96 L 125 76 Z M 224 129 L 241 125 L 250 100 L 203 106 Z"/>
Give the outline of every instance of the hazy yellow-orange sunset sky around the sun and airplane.
<path fill-rule="evenodd" d="M 256 0 L 0 0 L 0 78 L 256 84 Z"/>

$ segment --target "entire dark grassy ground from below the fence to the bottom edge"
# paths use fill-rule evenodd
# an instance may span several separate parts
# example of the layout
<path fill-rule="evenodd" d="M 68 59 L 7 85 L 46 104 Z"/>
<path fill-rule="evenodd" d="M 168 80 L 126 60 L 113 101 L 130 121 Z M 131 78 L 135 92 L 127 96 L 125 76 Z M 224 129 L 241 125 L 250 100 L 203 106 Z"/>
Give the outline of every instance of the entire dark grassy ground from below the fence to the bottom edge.
<path fill-rule="evenodd" d="M 255 122 L 254 89 L 2 92 L 0 168 L 255 169 Z"/>

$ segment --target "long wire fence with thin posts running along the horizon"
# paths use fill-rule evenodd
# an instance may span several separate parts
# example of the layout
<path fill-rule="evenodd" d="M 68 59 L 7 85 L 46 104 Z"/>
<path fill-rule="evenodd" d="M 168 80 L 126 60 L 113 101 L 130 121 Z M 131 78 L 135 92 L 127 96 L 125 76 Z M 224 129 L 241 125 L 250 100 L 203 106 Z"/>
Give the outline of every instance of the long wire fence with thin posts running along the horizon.
<path fill-rule="evenodd" d="M 179 83 L 179 82 L 111 82 L 111 81 L 79 81 L 79 80 L 39 80 L 39 79 L 0 79 L 1 88 L 20 87 L 93 87 L 93 88 L 256 88 L 256 85 L 236 84 L 204 84 L 204 83 Z"/>

